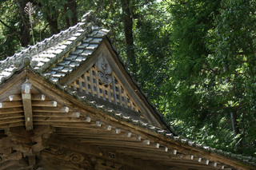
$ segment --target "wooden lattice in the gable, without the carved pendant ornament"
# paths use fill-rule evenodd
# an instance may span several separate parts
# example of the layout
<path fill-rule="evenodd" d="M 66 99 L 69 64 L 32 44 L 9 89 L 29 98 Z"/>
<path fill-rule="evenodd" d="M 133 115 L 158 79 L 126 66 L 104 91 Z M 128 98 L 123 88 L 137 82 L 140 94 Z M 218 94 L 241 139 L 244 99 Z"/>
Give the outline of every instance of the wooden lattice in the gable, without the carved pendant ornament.
<path fill-rule="evenodd" d="M 98 80 L 98 71 L 95 66 L 91 67 L 86 73 L 74 81 L 69 88 L 78 92 L 90 94 L 93 97 L 110 101 L 116 105 L 140 112 L 138 107 L 131 100 L 129 95 L 123 89 L 122 85 L 111 74 L 112 82 L 110 85 L 104 85 Z"/>

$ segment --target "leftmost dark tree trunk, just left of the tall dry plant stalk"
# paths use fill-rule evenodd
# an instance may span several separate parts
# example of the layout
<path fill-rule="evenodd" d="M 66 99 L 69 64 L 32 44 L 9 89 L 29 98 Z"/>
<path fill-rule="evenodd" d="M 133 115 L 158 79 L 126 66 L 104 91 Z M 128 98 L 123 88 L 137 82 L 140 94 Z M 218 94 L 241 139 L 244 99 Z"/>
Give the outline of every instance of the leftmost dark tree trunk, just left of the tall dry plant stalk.
<path fill-rule="evenodd" d="M 22 46 L 26 46 L 30 44 L 30 21 L 28 16 L 24 11 L 27 1 L 26 0 L 18 0 L 19 3 L 19 13 L 20 13 L 20 42 Z"/>

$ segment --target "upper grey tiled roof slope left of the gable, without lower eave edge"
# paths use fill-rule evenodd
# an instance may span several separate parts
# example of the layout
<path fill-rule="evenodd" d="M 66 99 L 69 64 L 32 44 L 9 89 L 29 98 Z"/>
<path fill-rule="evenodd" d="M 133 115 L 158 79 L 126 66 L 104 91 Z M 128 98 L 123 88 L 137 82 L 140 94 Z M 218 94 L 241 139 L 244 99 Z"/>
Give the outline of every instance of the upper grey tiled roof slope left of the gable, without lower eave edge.
<path fill-rule="evenodd" d="M 90 13 L 85 14 L 82 22 L 76 26 L 0 61 L 0 83 L 8 79 L 16 70 L 22 69 L 24 57 L 30 57 L 30 66 L 40 73 L 46 72 L 45 74 L 50 75 L 53 81 L 58 81 L 59 77 L 70 73 L 94 52 L 102 42 L 102 38 L 109 32 L 94 26 L 92 20 L 94 17 Z M 49 70 L 46 71 L 47 69 Z"/>

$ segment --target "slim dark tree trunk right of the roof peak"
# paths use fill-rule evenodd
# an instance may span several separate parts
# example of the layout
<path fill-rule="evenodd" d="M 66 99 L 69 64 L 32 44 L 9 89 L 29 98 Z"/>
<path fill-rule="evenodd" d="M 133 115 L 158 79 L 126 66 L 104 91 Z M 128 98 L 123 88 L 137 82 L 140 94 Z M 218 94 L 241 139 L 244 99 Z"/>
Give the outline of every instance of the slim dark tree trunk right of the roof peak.
<path fill-rule="evenodd" d="M 122 18 L 126 37 L 127 61 L 132 65 L 132 72 L 136 71 L 136 59 L 134 54 L 133 18 L 130 9 L 130 0 L 122 0 Z"/>

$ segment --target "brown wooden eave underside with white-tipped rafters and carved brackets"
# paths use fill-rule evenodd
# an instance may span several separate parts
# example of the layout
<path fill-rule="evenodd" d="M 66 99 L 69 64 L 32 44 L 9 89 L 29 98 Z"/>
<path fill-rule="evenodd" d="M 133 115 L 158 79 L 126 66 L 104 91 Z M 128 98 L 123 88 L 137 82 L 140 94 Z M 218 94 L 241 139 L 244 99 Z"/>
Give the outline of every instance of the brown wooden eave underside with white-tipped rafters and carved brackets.
<path fill-rule="evenodd" d="M 32 86 L 32 130 L 25 128 L 21 97 L 27 82 Z M 0 88 L 0 101 L 9 105 L 0 109 L 0 169 L 255 169 L 120 118 L 30 69 Z"/>

